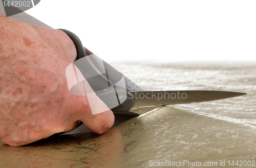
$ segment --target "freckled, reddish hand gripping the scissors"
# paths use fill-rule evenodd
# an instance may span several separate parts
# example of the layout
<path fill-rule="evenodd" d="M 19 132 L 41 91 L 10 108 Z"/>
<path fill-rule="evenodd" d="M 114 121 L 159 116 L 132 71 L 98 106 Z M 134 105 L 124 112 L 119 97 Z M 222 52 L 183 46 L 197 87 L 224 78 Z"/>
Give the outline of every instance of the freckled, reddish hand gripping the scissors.
<path fill-rule="evenodd" d="M 113 126 L 111 110 L 92 115 L 86 96 L 69 93 L 65 70 L 77 53 L 62 31 L 0 13 L 0 51 L 0 141 L 22 146 L 79 121 L 98 134 Z"/>

